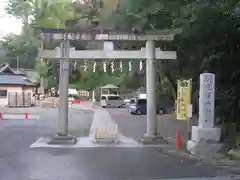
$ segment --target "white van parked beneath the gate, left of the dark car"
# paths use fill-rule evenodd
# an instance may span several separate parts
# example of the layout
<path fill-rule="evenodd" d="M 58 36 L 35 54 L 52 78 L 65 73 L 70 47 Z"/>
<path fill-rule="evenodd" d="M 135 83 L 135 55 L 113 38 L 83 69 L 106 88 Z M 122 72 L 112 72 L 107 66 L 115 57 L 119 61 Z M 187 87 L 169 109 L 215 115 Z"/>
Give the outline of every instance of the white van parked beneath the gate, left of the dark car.
<path fill-rule="evenodd" d="M 110 107 L 117 107 L 117 108 L 125 108 L 124 100 L 118 95 L 102 95 L 100 99 L 100 103 L 102 107 L 110 108 Z"/>

